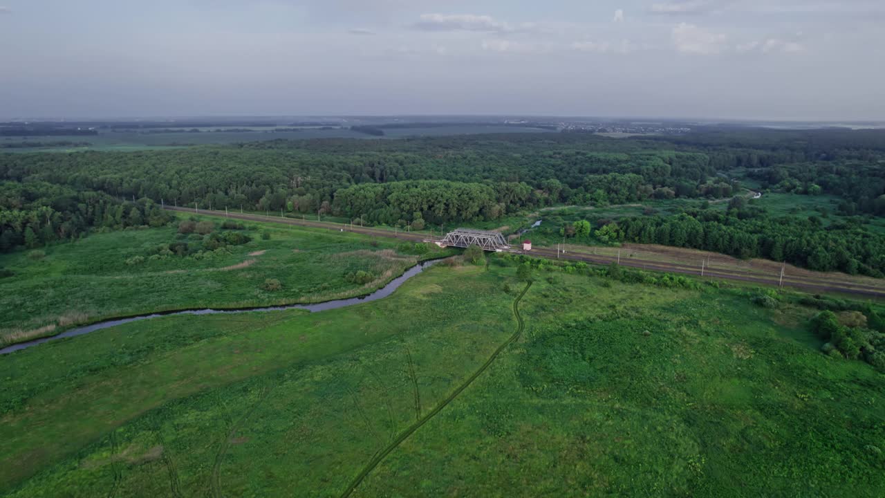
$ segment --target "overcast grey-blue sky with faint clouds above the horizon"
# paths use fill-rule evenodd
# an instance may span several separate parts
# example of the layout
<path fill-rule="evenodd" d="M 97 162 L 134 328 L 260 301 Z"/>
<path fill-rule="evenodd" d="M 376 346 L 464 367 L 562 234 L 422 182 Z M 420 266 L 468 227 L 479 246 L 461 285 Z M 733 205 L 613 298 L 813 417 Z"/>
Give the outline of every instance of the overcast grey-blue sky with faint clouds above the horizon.
<path fill-rule="evenodd" d="M 885 0 L 0 0 L 0 117 L 885 119 Z"/>

